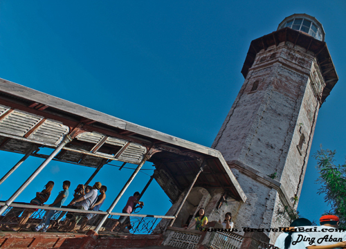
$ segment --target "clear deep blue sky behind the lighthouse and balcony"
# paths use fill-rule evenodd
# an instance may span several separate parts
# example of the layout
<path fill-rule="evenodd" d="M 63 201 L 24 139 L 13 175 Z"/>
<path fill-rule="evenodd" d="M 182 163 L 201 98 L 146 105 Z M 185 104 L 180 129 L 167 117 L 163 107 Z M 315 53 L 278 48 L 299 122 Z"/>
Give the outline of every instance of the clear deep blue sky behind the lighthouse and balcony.
<path fill-rule="evenodd" d="M 339 76 L 318 114 L 311 155 L 322 144 L 325 149 L 336 149 L 336 159 L 343 163 L 343 0 L 2 0 L 0 77 L 210 147 L 244 82 L 240 71 L 251 41 L 273 32 L 293 13 L 307 13 L 322 23 Z M 0 156 L 1 174 L 21 158 L 6 152 Z M 41 161 L 29 158 L 0 186 L 0 199 L 15 192 Z M 310 156 L 298 206 L 300 214 L 311 220 L 318 220 L 327 210 L 323 196 L 316 194 L 315 164 Z M 30 201 L 51 179 L 56 184 L 53 196 L 66 179 L 71 179 L 73 190 L 92 172 L 90 168 L 52 162 L 18 201 Z M 142 190 L 151 173 L 138 174 L 125 196 Z M 129 169 L 118 171 L 109 165 L 101 169 L 95 181 L 109 187 L 102 210 L 111 204 L 130 174 Z M 126 199 L 116 211 L 121 211 Z M 143 213 L 165 214 L 170 207 L 157 183 L 152 183 L 143 201 L 148 203 Z"/>

